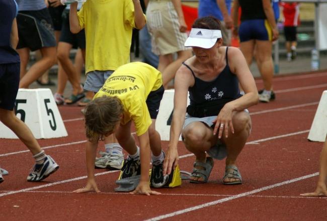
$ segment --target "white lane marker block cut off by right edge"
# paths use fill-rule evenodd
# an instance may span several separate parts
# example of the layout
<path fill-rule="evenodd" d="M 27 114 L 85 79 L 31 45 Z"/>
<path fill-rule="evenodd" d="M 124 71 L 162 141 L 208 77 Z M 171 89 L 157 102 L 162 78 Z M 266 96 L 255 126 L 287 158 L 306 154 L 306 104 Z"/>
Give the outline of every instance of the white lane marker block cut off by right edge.
<path fill-rule="evenodd" d="M 327 134 L 327 90 L 322 92 L 309 131 L 308 140 L 324 142 Z"/>

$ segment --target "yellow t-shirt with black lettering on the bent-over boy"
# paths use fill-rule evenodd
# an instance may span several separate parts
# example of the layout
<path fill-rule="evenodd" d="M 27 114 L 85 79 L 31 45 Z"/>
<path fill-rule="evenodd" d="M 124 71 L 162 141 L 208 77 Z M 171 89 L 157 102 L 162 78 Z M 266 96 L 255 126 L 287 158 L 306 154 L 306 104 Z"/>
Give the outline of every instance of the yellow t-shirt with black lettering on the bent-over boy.
<path fill-rule="evenodd" d="M 132 62 L 119 67 L 94 96 L 117 96 L 124 106 L 124 118 L 121 124 L 132 120 L 136 134 L 142 135 L 151 125 L 146 98 L 151 91 L 162 85 L 161 73 L 152 66 L 142 62 Z"/>

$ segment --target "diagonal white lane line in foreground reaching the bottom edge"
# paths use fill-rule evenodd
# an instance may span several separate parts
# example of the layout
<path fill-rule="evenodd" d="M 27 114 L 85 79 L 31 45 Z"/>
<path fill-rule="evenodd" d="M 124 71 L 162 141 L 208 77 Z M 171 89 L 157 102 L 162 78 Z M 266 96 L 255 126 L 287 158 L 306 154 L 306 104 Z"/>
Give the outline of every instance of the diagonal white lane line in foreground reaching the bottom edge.
<path fill-rule="evenodd" d="M 312 176 L 316 176 L 318 174 L 319 173 L 316 172 L 316 173 L 301 176 L 301 177 L 298 177 L 298 178 L 295 178 L 295 179 L 286 180 L 284 182 L 279 182 L 279 183 L 269 185 L 269 186 L 265 186 L 265 187 L 262 187 L 262 188 L 259 188 L 259 189 L 254 189 L 252 191 L 243 192 L 243 193 L 240 193 L 240 194 L 237 194 L 237 195 L 232 195 L 232 196 L 229 196 L 229 197 L 226 197 L 226 198 L 222 198 L 222 199 L 214 200 L 214 201 L 211 201 L 211 202 L 203 203 L 203 204 L 200 204 L 200 205 L 192 206 L 192 207 L 189 207 L 189 208 L 186 208 L 186 209 L 181 209 L 181 210 L 177 210 L 175 212 L 155 216 L 155 217 L 146 219 L 145 221 L 156 221 L 156 220 L 161 220 L 161 219 L 164 219 L 164 218 L 169 218 L 169 217 L 176 216 L 176 215 L 179 215 L 179 214 L 183 214 L 183 213 L 186 213 L 186 212 L 190 212 L 190 211 L 194 211 L 194 210 L 197 210 L 197 209 L 205 208 L 205 207 L 208 207 L 208 206 L 211 206 L 211 205 L 216 205 L 218 203 L 230 201 L 230 200 L 237 199 L 237 198 L 244 197 L 244 196 L 248 196 L 248 195 L 251 195 L 251 194 L 254 194 L 254 193 L 262 192 L 262 191 L 265 191 L 265 190 L 268 190 L 268 189 L 276 188 L 276 187 L 279 187 L 279 186 L 282 186 L 282 185 L 290 184 L 292 182 L 297 182 L 299 180 L 307 179 L 307 178 L 310 178 Z"/>

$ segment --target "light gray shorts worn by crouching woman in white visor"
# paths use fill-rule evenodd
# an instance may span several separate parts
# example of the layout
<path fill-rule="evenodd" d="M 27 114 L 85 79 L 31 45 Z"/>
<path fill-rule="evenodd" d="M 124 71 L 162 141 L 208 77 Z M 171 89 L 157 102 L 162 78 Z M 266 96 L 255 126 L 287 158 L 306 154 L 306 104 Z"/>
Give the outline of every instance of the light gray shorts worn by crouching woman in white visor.
<path fill-rule="evenodd" d="M 249 113 L 248 109 L 244 111 Z M 213 127 L 213 121 L 217 118 L 217 116 L 210 116 L 210 117 L 191 117 L 189 114 L 185 116 L 185 122 L 183 128 L 189 125 L 192 122 L 203 122 L 204 124 L 208 125 L 208 127 Z M 217 140 L 217 144 L 212 146 L 208 151 L 207 154 L 214 159 L 222 160 L 227 156 L 227 148 L 226 145 L 221 141 L 221 139 Z"/>

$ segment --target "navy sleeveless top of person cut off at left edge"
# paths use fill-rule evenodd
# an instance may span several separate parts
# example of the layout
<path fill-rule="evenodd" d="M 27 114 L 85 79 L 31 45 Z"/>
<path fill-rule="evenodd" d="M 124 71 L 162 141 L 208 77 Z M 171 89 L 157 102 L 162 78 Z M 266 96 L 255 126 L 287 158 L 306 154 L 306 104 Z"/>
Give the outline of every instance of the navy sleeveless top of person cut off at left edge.
<path fill-rule="evenodd" d="M 20 62 L 19 55 L 10 42 L 13 20 L 16 15 L 17 5 L 14 0 L 0 0 L 0 64 Z"/>

